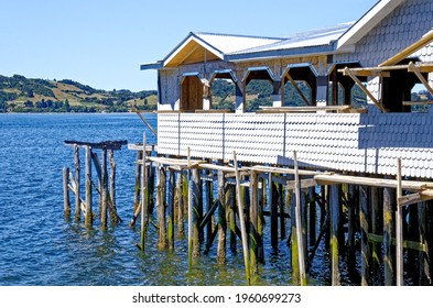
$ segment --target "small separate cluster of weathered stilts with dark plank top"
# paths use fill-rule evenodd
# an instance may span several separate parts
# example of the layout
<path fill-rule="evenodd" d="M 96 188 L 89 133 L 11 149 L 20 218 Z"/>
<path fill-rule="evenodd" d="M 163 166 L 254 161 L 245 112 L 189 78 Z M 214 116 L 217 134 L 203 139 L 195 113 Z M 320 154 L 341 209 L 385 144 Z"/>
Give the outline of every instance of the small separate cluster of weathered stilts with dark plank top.
<path fill-rule="evenodd" d="M 71 198 L 75 199 L 75 220 L 79 221 L 82 213 L 85 226 L 93 226 L 95 210 L 93 207 L 94 190 L 99 195 L 99 216 L 102 228 L 107 227 L 108 212 L 112 222 L 122 221 L 117 213 L 116 206 L 116 162 L 115 151 L 126 145 L 127 141 L 82 142 L 65 141 L 67 146 L 74 148 L 74 173 L 68 167 L 63 168 L 64 215 L 71 217 Z M 82 198 L 82 164 L 79 150 L 85 151 L 85 199 Z M 100 150 L 100 160 L 95 152 Z M 108 154 L 108 156 L 107 156 Z M 94 168 L 91 167 L 94 165 Z M 109 166 L 109 167 L 108 167 Z M 93 169 L 96 170 L 98 184 L 93 179 Z M 110 169 L 110 174 L 108 174 Z"/>

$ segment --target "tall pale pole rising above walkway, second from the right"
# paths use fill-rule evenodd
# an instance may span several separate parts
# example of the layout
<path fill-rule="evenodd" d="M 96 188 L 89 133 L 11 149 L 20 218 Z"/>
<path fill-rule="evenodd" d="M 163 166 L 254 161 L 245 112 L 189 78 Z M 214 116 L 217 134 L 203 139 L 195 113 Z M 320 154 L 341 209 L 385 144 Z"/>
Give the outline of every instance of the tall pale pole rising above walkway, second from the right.
<path fill-rule="evenodd" d="M 297 253 L 300 264 L 300 279 L 301 286 L 306 286 L 306 274 L 305 274 L 305 257 L 304 257 L 304 243 L 302 235 L 302 217 L 301 217 L 301 182 L 297 172 L 297 157 L 296 151 L 293 151 L 293 163 L 294 163 L 294 180 L 295 180 L 295 216 L 296 216 L 296 240 L 297 240 Z"/>

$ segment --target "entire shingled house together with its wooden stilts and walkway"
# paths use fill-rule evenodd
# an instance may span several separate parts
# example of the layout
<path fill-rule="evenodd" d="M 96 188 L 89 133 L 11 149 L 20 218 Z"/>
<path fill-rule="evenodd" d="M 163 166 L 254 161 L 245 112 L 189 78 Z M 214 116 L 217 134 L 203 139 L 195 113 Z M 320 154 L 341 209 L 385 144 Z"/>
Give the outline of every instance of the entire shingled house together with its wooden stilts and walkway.
<path fill-rule="evenodd" d="M 169 198 L 170 228 L 173 205 L 188 212 L 191 264 L 203 239 L 207 251 L 218 238 L 223 263 L 239 239 L 250 283 L 269 237 L 275 252 L 290 239 L 301 285 L 323 243 L 332 285 L 342 256 L 359 285 L 432 284 L 432 13 L 430 0 L 381 0 L 355 23 L 286 37 L 192 32 L 141 66 L 158 70 L 156 208 Z M 271 94 L 261 105 L 257 81 Z M 214 96 L 218 82 L 232 94 Z"/>

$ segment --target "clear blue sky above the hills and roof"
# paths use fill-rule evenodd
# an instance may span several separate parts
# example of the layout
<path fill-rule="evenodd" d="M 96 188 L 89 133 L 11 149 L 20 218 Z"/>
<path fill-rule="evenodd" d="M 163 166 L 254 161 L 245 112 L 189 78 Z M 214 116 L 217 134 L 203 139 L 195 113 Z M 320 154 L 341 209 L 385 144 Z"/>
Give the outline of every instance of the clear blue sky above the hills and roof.
<path fill-rule="evenodd" d="M 0 0 L 0 75 L 156 89 L 140 64 L 191 31 L 280 36 L 356 21 L 377 0 Z"/>

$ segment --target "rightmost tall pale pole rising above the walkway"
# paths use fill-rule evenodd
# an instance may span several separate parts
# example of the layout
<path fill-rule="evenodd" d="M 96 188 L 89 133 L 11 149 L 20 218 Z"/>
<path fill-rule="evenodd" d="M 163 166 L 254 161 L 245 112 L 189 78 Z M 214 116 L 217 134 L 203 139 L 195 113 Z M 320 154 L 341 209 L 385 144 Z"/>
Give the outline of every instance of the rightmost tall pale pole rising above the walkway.
<path fill-rule="evenodd" d="M 396 274 L 397 285 L 403 285 L 403 209 L 400 198 L 403 196 L 401 188 L 401 160 L 397 160 L 397 212 L 396 212 Z"/>

